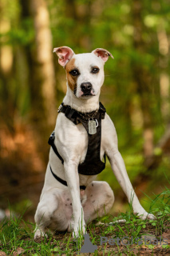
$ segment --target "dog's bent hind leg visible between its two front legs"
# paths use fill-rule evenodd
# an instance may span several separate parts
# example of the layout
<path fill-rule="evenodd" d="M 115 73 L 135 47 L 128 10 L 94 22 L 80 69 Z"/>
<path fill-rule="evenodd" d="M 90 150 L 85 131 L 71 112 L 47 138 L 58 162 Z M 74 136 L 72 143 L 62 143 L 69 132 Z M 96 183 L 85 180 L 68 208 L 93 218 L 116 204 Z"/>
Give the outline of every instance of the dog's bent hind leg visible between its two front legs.
<path fill-rule="evenodd" d="M 83 205 L 85 223 L 101 218 L 109 213 L 113 206 L 113 190 L 107 182 L 92 182 L 85 190 L 87 200 Z"/>

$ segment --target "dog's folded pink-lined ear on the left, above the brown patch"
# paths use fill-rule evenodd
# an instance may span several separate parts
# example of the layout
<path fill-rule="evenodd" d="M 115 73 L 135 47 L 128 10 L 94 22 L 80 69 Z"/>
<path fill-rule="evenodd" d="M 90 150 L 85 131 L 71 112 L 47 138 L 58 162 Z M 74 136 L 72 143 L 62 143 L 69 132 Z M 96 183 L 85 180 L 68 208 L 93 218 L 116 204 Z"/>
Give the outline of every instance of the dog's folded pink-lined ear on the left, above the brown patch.
<path fill-rule="evenodd" d="M 61 66 L 65 66 L 67 62 L 73 57 L 73 50 L 67 46 L 61 46 L 53 49 L 53 53 L 56 53 L 58 56 L 58 63 Z"/>

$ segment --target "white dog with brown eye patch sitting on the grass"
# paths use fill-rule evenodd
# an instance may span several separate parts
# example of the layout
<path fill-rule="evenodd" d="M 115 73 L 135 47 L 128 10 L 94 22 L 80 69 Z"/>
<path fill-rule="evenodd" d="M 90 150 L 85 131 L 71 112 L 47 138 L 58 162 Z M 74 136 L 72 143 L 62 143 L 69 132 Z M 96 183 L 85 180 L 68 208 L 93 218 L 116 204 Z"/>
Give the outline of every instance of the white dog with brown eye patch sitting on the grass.
<path fill-rule="evenodd" d="M 124 190 L 133 212 L 140 218 L 155 218 L 140 205 L 117 148 L 117 132 L 104 106 L 99 103 L 104 82 L 104 64 L 112 54 L 97 48 L 74 54 L 69 47 L 53 50 L 65 67 L 67 93 L 60 106 L 38 209 L 34 238 L 49 229 L 85 234 L 85 224 L 109 212 L 114 202 L 107 182 L 95 182 L 105 169 L 107 155 L 113 173 Z"/>

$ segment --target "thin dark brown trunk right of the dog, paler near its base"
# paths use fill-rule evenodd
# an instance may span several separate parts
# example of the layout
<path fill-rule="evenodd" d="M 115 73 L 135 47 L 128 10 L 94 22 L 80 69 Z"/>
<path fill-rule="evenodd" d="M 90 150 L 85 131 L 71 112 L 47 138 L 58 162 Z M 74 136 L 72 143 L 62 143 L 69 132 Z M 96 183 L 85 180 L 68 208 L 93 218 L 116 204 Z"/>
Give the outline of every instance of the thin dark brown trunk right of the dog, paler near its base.
<path fill-rule="evenodd" d="M 140 0 L 132 1 L 132 18 L 134 26 L 133 43 L 136 54 L 142 56 L 145 52 L 144 40 L 142 33 L 144 24 L 142 22 L 142 2 Z M 149 161 L 153 152 L 153 130 L 152 130 L 152 114 L 150 110 L 151 101 L 151 76 L 145 66 L 138 60 L 132 66 L 133 77 L 136 82 L 137 92 L 140 95 L 140 107 L 143 115 L 144 130 L 144 158 Z"/>

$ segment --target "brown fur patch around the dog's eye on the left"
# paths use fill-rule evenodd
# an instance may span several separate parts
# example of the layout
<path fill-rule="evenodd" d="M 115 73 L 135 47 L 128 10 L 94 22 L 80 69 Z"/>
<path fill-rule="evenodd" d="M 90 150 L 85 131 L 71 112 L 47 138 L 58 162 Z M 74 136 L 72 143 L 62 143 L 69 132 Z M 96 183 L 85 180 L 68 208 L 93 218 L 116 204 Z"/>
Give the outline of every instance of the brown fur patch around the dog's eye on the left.
<path fill-rule="evenodd" d="M 77 89 L 77 78 L 79 75 L 79 71 L 78 71 L 77 67 L 75 66 L 75 58 L 72 58 L 66 64 L 65 70 L 66 70 L 66 77 L 67 77 L 69 88 L 71 90 L 73 90 L 73 92 L 75 92 Z M 77 74 L 76 74 L 76 71 L 77 71 Z"/>

